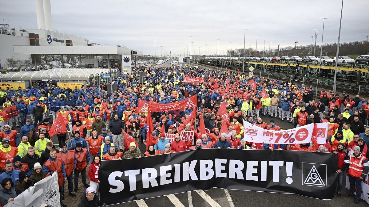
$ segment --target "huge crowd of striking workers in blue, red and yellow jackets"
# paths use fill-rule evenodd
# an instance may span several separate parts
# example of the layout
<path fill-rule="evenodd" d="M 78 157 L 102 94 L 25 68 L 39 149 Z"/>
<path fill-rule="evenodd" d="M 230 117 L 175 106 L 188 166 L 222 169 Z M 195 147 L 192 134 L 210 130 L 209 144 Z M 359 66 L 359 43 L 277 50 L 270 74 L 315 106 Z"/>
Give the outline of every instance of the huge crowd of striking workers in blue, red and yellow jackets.
<path fill-rule="evenodd" d="M 138 80 L 139 72 L 145 72 L 144 83 Z M 184 83 L 184 76 L 204 77 L 205 82 Z M 361 180 L 369 171 L 366 159 L 369 108 L 366 99 L 359 95 L 351 98 L 345 92 L 334 94 L 324 89 L 318 92 L 312 86 L 288 80 L 190 67 L 133 68 L 131 74 L 116 75 L 113 82 L 118 87 L 113 94 L 107 93 L 104 80 L 74 89 L 41 80 L 31 88 L 1 88 L 2 205 L 55 171 L 58 172 L 61 202 L 65 199 L 66 183 L 68 196 L 76 196 L 75 192 L 80 190 L 80 174 L 86 188 L 80 206 L 100 205 L 95 194 L 100 183 L 101 160 L 203 148 L 288 149 L 339 154 L 337 196 L 341 196 L 347 172 L 350 191 L 345 196 L 355 196 L 355 203 L 359 202 Z M 317 100 L 314 99 L 316 93 Z M 139 99 L 175 103 L 194 95 L 197 95 L 196 108 L 149 115 L 140 113 L 138 108 Z M 220 114 L 223 104 L 227 107 L 225 116 Z M 67 127 L 56 133 L 58 143 L 53 143 L 49 134 L 51 122 L 59 116 Z M 148 116 L 151 119 L 148 120 Z M 267 116 L 269 120 L 264 122 Z M 263 129 L 283 130 L 275 124 L 277 119 L 289 122 L 289 128 L 328 122 L 326 144 L 250 143 L 242 138 L 244 120 Z M 149 131 L 151 122 L 154 129 Z M 201 133 L 201 127 L 205 127 L 207 133 Z M 182 140 L 182 131 L 192 131 L 193 137 Z M 174 139 L 167 139 L 166 134 L 174 134 Z M 61 206 L 66 205 L 61 203 Z"/>

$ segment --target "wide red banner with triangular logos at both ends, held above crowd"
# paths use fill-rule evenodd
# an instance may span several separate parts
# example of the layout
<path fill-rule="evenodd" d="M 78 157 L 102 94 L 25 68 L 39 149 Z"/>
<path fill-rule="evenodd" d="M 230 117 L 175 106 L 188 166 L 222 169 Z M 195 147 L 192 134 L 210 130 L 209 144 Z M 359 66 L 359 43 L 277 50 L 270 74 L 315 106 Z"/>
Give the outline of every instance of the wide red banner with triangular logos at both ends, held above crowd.
<path fill-rule="evenodd" d="M 162 112 L 194 107 L 197 108 L 197 95 L 175 103 L 152 103 L 138 99 L 139 113 L 148 112 L 148 110 L 151 112 Z"/>

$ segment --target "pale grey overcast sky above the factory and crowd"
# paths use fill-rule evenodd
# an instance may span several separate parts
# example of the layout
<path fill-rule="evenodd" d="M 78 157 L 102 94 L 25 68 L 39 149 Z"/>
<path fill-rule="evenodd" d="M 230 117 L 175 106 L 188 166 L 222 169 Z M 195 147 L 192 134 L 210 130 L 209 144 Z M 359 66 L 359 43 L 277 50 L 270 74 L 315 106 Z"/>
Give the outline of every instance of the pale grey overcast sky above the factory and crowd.
<path fill-rule="evenodd" d="M 0 0 L 0 17 L 10 27 L 37 28 L 34 0 Z M 369 0 L 344 0 L 341 43 L 363 41 L 369 34 Z M 317 44 L 337 42 L 341 0 L 218 1 L 218 0 L 51 0 L 54 29 L 89 39 L 100 45 L 126 45 L 154 55 L 154 40 L 168 53 L 188 54 L 190 37 L 194 54 L 219 53 L 225 48 L 258 50 L 311 44 L 313 29 Z M 232 43 L 230 43 L 232 42 Z M 314 42 L 313 42 L 314 43 Z M 191 45 L 192 46 L 192 45 Z M 158 45 L 155 47 L 158 55 Z"/>

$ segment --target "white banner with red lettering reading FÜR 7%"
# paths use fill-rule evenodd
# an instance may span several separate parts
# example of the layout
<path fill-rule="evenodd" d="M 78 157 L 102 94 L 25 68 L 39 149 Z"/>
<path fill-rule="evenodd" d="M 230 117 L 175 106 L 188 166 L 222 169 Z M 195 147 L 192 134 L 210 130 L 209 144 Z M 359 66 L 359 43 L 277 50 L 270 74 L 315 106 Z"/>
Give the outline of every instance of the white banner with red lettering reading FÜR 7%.
<path fill-rule="evenodd" d="M 328 122 L 312 123 L 293 129 L 274 131 L 262 129 L 244 121 L 244 139 L 254 143 L 304 144 L 313 142 L 311 139 L 314 138 L 318 144 L 325 144 L 327 130 Z"/>

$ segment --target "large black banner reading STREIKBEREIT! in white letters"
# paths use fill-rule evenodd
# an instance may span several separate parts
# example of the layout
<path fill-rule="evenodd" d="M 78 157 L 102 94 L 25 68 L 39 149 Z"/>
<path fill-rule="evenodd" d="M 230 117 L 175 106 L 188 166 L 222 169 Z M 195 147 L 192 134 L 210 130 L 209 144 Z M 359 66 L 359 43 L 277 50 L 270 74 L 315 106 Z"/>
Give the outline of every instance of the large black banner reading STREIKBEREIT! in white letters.
<path fill-rule="evenodd" d="M 337 155 L 305 151 L 201 149 L 101 161 L 100 199 L 115 204 L 212 187 L 332 199 Z"/>

